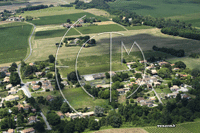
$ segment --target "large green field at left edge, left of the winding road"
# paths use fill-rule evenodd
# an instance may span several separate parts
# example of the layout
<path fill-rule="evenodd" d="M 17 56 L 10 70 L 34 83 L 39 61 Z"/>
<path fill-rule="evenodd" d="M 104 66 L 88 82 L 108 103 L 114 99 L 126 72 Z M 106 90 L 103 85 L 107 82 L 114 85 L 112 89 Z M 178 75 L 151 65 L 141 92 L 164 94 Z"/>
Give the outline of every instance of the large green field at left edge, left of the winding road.
<path fill-rule="evenodd" d="M 32 26 L 25 23 L 0 25 L 0 63 L 20 61 L 25 58 L 31 30 Z"/>

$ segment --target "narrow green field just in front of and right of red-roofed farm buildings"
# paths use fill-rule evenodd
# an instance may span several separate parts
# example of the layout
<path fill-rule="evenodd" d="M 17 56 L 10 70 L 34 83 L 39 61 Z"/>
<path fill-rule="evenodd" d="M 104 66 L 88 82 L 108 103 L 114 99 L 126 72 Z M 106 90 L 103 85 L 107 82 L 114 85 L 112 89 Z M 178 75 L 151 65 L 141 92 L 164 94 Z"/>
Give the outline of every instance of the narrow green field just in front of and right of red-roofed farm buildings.
<path fill-rule="evenodd" d="M 78 27 L 77 30 L 79 30 L 82 34 L 112 32 L 112 31 L 125 31 L 124 28 L 122 28 L 121 26 L 119 26 L 117 24 Z"/>

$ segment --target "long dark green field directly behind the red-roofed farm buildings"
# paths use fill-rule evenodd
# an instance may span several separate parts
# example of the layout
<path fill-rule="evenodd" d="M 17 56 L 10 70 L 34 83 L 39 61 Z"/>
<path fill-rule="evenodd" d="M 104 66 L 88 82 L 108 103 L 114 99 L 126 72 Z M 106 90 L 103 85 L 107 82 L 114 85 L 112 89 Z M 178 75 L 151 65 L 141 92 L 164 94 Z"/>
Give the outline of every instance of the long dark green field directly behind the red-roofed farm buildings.
<path fill-rule="evenodd" d="M 43 16 L 43 17 L 39 17 L 39 19 L 35 19 L 30 22 L 35 25 L 62 24 L 62 23 L 66 23 L 67 19 L 70 19 L 71 21 L 76 21 L 79 18 L 83 17 L 84 15 L 86 15 L 87 18 L 95 17 L 96 19 L 100 19 L 101 21 L 108 21 L 107 18 L 103 18 L 101 16 L 95 16 L 91 13 L 82 12 L 82 13 L 74 13 L 74 14 Z"/>

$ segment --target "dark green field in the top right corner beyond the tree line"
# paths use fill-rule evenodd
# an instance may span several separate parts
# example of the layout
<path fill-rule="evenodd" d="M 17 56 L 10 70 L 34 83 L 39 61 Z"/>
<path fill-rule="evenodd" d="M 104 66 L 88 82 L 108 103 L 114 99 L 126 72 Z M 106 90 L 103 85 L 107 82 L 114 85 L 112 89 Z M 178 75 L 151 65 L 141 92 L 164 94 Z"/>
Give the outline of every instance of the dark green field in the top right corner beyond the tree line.
<path fill-rule="evenodd" d="M 170 17 L 199 13 L 199 3 L 193 0 L 117 0 L 109 3 L 111 8 L 126 9 L 140 15 Z"/>

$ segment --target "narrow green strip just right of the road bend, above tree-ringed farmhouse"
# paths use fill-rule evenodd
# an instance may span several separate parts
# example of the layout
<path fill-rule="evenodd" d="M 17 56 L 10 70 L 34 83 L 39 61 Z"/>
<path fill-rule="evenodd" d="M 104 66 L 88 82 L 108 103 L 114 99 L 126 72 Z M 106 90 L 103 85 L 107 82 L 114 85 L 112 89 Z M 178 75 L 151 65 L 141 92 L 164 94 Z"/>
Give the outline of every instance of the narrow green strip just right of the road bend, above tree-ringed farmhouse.
<path fill-rule="evenodd" d="M 62 37 L 68 29 L 46 30 L 38 31 L 35 33 L 35 39 L 45 39 L 53 37 Z M 70 29 L 67 36 L 80 35 L 75 29 Z"/>

